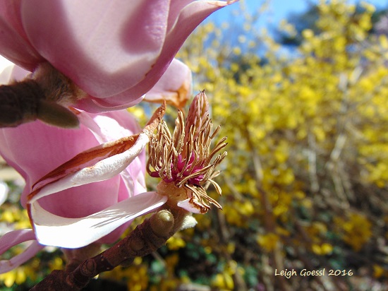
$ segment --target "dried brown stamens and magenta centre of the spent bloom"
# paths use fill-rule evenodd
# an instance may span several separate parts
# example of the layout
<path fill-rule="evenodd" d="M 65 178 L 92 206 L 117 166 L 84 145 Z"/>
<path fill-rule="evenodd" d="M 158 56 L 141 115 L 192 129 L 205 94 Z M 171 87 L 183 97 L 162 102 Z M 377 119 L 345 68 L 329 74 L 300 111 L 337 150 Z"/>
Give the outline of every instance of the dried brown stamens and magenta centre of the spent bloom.
<path fill-rule="evenodd" d="M 219 126 L 212 132 L 205 91 L 196 95 L 190 105 L 186 126 L 181 111 L 178 111 L 175 124 L 171 136 L 166 123 L 162 121 L 149 143 L 147 172 L 151 177 L 162 178 L 158 193 L 168 196 L 172 206 L 193 213 L 207 213 L 209 203 L 222 209 L 217 201 L 207 196 L 205 190 L 212 183 L 221 195 L 221 188 L 213 181 L 219 172 L 214 170 L 226 157 L 226 152 L 218 153 L 226 146 L 226 138 L 210 149 Z"/>

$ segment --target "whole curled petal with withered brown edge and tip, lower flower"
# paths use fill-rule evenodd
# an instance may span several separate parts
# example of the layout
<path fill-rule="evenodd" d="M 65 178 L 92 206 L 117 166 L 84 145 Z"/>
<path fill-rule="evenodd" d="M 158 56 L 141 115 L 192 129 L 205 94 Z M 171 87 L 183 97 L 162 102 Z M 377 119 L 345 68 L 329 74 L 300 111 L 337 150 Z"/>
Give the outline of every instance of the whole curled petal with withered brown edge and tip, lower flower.
<path fill-rule="evenodd" d="M 28 203 L 73 186 L 109 179 L 125 170 L 150 141 L 150 136 L 162 120 L 165 111 L 164 102 L 155 110 L 139 135 L 85 150 L 46 174 L 32 186 L 33 191 L 28 195 Z"/>

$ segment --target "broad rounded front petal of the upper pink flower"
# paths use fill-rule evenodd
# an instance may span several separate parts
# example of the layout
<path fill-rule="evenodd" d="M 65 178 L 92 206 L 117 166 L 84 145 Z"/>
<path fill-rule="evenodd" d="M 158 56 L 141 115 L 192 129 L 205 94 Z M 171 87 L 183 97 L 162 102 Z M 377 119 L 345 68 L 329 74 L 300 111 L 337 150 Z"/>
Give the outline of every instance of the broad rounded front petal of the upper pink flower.
<path fill-rule="evenodd" d="M 20 9 L 44 59 L 90 95 L 109 97 L 145 78 L 159 57 L 169 1 L 23 1 Z"/>

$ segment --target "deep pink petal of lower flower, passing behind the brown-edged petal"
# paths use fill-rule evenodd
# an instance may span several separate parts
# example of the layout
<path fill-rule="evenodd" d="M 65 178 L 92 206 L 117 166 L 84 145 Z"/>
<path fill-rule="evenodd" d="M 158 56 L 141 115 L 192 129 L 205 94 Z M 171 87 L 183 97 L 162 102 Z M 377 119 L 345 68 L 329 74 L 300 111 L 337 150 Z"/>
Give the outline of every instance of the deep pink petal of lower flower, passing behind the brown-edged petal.
<path fill-rule="evenodd" d="M 36 121 L 16 129 L 2 129 L 0 144 L 1 155 L 25 178 L 26 186 L 21 197 L 21 202 L 25 205 L 32 183 L 49 169 L 66 162 L 78 150 L 82 151 L 98 143 L 93 134 L 83 126 L 69 131 Z M 120 179 L 118 176 L 109 181 L 66 190 L 44 198 L 40 203 L 58 215 L 89 215 L 118 201 Z M 131 192 L 127 189 L 126 198 L 129 193 Z"/>

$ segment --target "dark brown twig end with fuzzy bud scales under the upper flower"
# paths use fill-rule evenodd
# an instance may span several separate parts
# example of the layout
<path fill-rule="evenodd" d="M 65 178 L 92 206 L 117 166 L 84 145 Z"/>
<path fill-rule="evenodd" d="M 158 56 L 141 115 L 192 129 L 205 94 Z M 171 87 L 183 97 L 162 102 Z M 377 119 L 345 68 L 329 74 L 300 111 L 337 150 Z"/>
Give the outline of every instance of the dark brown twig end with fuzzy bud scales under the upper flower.
<path fill-rule="evenodd" d="M 0 127 L 15 127 L 40 119 L 64 128 L 79 126 L 67 107 L 85 96 L 69 78 L 48 63 L 28 78 L 0 86 Z"/>

